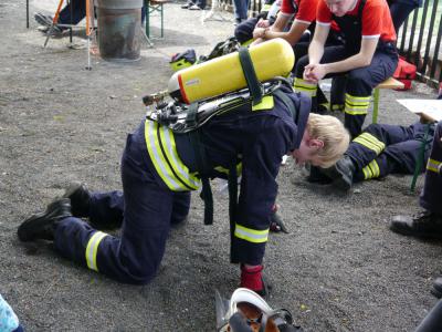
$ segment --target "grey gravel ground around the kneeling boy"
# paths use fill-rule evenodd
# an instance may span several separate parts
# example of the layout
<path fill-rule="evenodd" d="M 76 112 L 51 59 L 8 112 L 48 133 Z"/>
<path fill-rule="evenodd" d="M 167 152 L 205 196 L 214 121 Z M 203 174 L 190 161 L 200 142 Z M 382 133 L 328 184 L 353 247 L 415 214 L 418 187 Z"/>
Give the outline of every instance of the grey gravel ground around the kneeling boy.
<path fill-rule="evenodd" d="M 54 0 L 31 0 L 31 13 Z M 225 14 L 230 17 L 230 14 Z M 166 87 L 175 52 L 208 52 L 232 33 L 232 22 L 200 23 L 201 12 L 166 6 L 166 38 L 144 45 L 131 64 L 93 56 L 25 29 L 23 1 L 0 3 L 0 293 L 28 331 L 213 331 L 214 289 L 230 294 L 239 269 L 229 263 L 228 199 L 215 194 L 214 225 L 202 225 L 194 195 L 189 222 L 170 234 L 158 277 L 148 286 L 119 284 L 59 257 L 48 243 L 22 246 L 22 218 L 61 195 L 73 180 L 93 189 L 120 188 L 119 158 L 127 133 L 144 115 L 140 97 Z M 159 32 L 154 21 L 154 33 Z M 84 31 L 74 42 L 84 45 Z M 415 116 L 381 92 L 381 123 Z M 418 193 L 422 187 L 418 181 Z M 306 331 L 412 331 L 435 303 L 440 242 L 392 234 L 388 218 L 418 209 L 411 176 L 367 181 L 343 195 L 314 186 L 291 160 L 278 177 L 290 235 L 272 235 L 265 272 L 269 302 L 285 307 Z"/>

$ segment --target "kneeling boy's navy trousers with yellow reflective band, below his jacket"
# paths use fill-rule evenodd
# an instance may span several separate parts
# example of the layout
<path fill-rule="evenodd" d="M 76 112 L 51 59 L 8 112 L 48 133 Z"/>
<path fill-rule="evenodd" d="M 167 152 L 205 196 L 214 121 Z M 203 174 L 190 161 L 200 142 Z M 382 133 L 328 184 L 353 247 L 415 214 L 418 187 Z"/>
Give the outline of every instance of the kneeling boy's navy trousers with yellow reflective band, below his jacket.
<path fill-rule="evenodd" d="M 91 224 L 118 224 L 124 218 L 120 238 L 71 217 L 56 227 L 54 241 L 64 257 L 128 283 L 146 283 L 155 277 L 170 224 L 182 221 L 190 205 L 189 191 L 171 191 L 158 186 L 146 160 L 148 153 L 143 133 L 138 129 L 127 138 L 122 158 L 124 195 L 110 191 L 92 196 Z"/>

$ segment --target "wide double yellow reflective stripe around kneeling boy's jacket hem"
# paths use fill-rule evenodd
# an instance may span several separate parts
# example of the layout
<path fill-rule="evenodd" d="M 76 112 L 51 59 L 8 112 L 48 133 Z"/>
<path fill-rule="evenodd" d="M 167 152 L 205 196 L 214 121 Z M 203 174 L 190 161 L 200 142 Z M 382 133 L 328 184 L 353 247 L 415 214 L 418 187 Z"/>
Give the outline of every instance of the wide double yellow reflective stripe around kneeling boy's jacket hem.
<path fill-rule="evenodd" d="M 191 175 L 180 160 L 173 135 L 169 128 L 146 120 L 145 138 L 155 169 L 170 190 L 198 189 L 199 179 Z"/>

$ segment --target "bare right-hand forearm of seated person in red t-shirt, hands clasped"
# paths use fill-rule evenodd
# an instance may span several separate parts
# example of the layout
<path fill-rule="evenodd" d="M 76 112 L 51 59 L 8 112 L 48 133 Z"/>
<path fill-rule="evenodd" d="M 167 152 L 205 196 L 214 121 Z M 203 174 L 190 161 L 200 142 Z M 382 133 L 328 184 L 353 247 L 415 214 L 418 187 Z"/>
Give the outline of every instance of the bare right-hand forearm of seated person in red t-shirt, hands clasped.
<path fill-rule="evenodd" d="M 369 65 L 378 45 L 378 40 L 379 38 L 364 38 L 359 53 L 343 61 L 315 64 L 314 66 L 309 68 L 309 79 L 319 81 L 325 75 L 330 73 L 343 73 Z"/>

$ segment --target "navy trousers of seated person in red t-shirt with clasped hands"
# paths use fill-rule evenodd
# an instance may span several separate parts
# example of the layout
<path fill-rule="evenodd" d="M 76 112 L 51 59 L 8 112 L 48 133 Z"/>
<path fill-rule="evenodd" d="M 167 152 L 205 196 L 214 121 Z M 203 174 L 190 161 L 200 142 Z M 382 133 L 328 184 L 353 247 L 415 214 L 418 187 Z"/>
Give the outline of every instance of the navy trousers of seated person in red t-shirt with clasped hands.
<path fill-rule="evenodd" d="M 320 63 L 341 61 L 352 54 L 355 53 L 349 52 L 344 45 L 325 48 Z M 356 137 L 361 132 L 370 104 L 372 89 L 393 74 L 397 63 L 398 55 L 396 48 L 386 44 L 378 46 L 370 65 L 344 73 L 347 76 L 344 87 L 345 126 L 352 137 Z M 309 96 L 315 97 L 317 84 L 303 80 L 304 69 L 307 64 L 308 55 L 303 56 L 296 63 L 295 87 L 296 91 L 307 93 Z M 335 77 L 339 75 L 343 75 L 343 73 L 329 74 L 325 77 Z"/>

